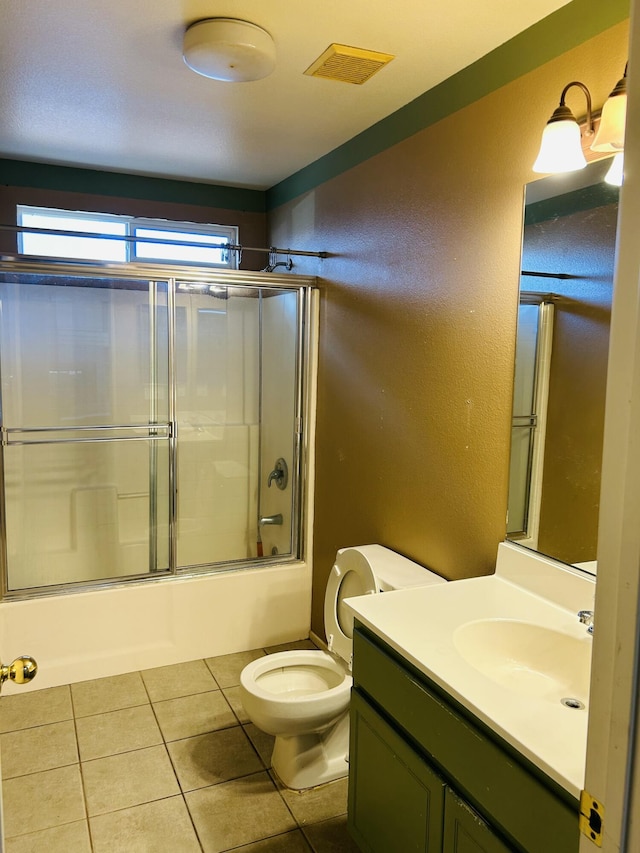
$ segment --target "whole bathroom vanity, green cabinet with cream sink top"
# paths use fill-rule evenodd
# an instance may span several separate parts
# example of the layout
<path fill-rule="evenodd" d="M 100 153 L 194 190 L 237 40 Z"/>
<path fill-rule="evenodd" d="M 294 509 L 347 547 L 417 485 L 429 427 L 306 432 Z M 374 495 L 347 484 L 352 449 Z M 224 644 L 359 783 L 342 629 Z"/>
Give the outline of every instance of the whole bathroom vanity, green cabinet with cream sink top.
<path fill-rule="evenodd" d="M 591 638 L 575 614 L 595 585 L 500 547 L 495 576 L 349 600 L 348 820 L 367 853 L 578 850 Z M 551 599 L 531 589 L 547 570 Z"/>

